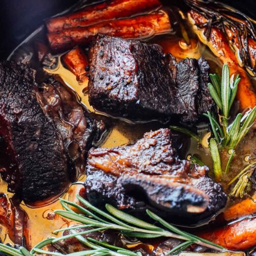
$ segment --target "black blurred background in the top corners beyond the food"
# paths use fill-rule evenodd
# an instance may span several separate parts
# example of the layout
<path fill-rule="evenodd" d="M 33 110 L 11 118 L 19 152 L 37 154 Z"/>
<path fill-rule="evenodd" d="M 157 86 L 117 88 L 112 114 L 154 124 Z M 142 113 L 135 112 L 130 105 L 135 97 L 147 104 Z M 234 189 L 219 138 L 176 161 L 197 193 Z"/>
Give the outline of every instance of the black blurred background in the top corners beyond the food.
<path fill-rule="evenodd" d="M 83 1 L 84 0 L 80 0 Z M 169 0 L 172 3 L 172 0 Z M 180 0 L 181 1 L 181 0 Z M 1 0 L 0 3 L 0 59 L 9 53 L 42 20 L 74 5 L 77 0 Z M 256 0 L 219 0 L 255 19 Z"/>

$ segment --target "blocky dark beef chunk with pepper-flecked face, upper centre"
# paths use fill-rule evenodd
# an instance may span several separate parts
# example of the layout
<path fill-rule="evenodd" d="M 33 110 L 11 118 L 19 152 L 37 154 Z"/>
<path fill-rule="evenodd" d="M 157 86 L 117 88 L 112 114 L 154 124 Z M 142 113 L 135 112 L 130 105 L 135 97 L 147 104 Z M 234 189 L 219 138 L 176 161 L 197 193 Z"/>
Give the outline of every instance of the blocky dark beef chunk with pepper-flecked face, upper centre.
<path fill-rule="evenodd" d="M 128 119 L 197 121 L 211 109 L 208 63 L 176 61 L 159 45 L 98 35 L 90 50 L 89 101 Z"/>

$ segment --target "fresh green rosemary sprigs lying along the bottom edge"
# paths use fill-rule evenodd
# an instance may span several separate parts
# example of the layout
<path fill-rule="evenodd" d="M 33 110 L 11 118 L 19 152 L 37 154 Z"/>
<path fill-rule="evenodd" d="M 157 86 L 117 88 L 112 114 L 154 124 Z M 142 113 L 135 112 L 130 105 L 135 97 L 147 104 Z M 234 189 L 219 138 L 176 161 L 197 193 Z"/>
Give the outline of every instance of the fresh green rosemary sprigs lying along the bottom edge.
<path fill-rule="evenodd" d="M 97 241 L 93 238 L 84 238 L 83 234 L 88 234 L 94 231 L 104 231 L 104 230 L 117 230 L 126 237 L 136 237 L 136 238 L 157 238 L 157 237 L 169 237 L 183 240 L 184 242 L 173 248 L 168 252 L 168 255 L 178 254 L 180 251 L 185 250 L 191 244 L 198 244 L 210 249 L 217 251 L 223 251 L 223 248 L 220 245 L 211 243 L 205 239 L 190 234 L 188 232 L 182 231 L 176 226 L 169 224 L 164 221 L 162 218 L 154 214 L 150 210 L 146 210 L 147 215 L 160 224 L 159 226 L 153 225 L 151 223 L 142 221 L 138 218 L 133 217 L 130 214 L 116 209 L 110 204 L 106 204 L 105 208 L 108 212 L 98 209 L 97 207 L 90 204 L 88 201 L 84 200 L 79 195 L 76 195 L 79 202 L 83 205 L 80 206 L 76 203 L 60 199 L 61 205 L 65 210 L 55 210 L 55 214 L 58 214 L 61 217 L 65 217 L 70 220 L 77 221 L 81 225 L 71 226 L 67 228 L 62 228 L 53 231 L 54 234 L 59 232 L 70 230 L 70 234 L 58 238 L 48 238 L 44 241 L 41 241 L 35 245 L 31 251 L 26 250 L 24 247 L 20 249 L 14 249 L 7 245 L 0 244 L 0 251 L 13 256 L 33 256 L 36 254 L 52 254 L 57 256 L 62 256 L 64 254 L 59 252 L 51 252 L 42 249 L 43 247 L 54 244 L 60 240 L 65 240 L 68 238 L 75 237 L 82 244 L 89 247 L 89 250 L 79 251 L 75 253 L 70 253 L 68 255 L 81 256 L 81 255 L 113 255 L 113 256 L 122 256 L 122 255 L 131 255 L 138 256 L 141 255 L 140 252 L 133 252 L 121 247 L 110 245 L 106 242 Z M 81 214 L 73 211 L 70 207 L 75 207 Z M 84 208 L 85 207 L 85 208 Z M 77 232 L 77 228 L 87 228 L 84 231 Z"/>

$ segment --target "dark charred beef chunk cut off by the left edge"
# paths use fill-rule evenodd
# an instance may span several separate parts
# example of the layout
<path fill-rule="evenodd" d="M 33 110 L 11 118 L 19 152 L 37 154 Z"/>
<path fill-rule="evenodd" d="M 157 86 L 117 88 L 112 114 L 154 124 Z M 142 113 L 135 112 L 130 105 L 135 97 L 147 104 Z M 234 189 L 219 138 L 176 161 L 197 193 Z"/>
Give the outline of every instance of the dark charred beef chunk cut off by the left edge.
<path fill-rule="evenodd" d="M 26 201 L 57 195 L 69 183 L 62 138 L 40 108 L 36 86 L 29 67 L 0 63 L 0 169 L 8 190 Z"/>

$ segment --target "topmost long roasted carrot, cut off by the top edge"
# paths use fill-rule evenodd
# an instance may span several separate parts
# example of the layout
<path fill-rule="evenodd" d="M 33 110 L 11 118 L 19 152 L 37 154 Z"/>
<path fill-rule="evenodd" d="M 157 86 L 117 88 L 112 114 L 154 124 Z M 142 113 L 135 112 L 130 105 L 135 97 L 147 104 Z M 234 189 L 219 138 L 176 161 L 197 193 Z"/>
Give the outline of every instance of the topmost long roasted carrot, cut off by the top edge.
<path fill-rule="evenodd" d="M 63 29 L 89 26 L 108 19 L 129 17 L 147 12 L 161 6 L 158 0 L 112 0 L 65 16 L 49 19 L 46 22 L 48 31 L 57 32 Z"/>

